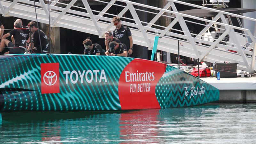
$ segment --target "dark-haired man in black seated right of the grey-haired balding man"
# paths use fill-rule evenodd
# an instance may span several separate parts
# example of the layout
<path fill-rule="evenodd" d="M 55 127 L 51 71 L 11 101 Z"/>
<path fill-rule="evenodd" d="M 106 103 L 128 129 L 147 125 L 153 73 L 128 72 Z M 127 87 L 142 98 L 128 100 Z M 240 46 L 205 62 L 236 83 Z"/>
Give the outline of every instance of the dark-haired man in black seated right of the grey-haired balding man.
<path fill-rule="evenodd" d="M 33 36 L 31 36 L 32 37 L 31 49 L 28 48 L 28 51 L 32 50 L 32 53 L 47 53 L 49 42 L 46 34 L 41 29 L 39 29 L 39 34 L 40 34 L 40 39 L 39 39 L 37 24 L 34 21 L 30 21 L 28 23 L 28 28 L 30 29 L 31 33 L 33 33 Z M 42 45 L 40 45 L 40 40 Z M 42 51 L 41 51 L 41 46 L 42 46 Z"/>

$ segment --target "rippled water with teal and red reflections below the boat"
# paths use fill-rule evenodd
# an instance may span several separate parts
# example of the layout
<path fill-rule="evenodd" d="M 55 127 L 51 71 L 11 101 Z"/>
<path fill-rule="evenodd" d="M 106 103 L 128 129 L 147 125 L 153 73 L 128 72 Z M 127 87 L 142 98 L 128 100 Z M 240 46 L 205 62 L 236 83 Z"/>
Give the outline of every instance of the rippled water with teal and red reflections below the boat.
<path fill-rule="evenodd" d="M 0 143 L 256 143 L 256 104 L 4 112 Z"/>

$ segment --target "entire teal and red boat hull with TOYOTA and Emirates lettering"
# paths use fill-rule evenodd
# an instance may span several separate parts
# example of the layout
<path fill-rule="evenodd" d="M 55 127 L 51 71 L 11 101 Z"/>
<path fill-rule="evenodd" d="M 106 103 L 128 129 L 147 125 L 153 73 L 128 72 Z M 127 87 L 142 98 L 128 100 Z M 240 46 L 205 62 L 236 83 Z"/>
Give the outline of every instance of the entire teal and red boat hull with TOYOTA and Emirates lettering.
<path fill-rule="evenodd" d="M 170 108 L 219 100 L 215 87 L 149 60 L 6 55 L 0 56 L 0 68 L 2 111 Z"/>

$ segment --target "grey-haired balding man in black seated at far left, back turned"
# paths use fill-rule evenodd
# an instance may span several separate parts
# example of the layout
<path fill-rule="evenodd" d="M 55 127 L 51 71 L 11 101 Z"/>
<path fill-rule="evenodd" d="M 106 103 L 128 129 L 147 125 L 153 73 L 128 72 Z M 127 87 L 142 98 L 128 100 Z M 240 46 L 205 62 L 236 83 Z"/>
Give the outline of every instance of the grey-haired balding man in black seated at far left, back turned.
<path fill-rule="evenodd" d="M 11 30 L 9 33 L 5 34 L 2 37 L 2 41 L 0 44 L 0 53 L 3 52 L 5 46 L 10 47 L 10 51 L 5 52 L 4 54 L 16 54 L 16 53 L 24 53 L 26 48 L 26 36 L 21 28 L 21 22 L 16 20 L 14 22 L 14 29 Z M 6 38 L 12 36 L 14 38 L 15 43 L 13 44 Z M 12 48 L 11 48 L 12 47 Z"/>

